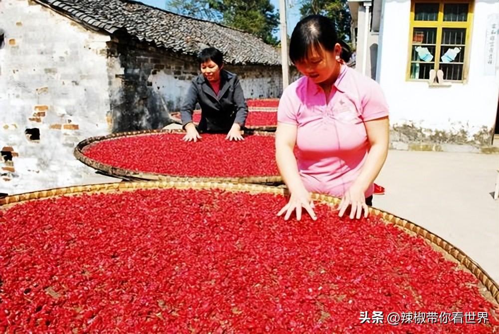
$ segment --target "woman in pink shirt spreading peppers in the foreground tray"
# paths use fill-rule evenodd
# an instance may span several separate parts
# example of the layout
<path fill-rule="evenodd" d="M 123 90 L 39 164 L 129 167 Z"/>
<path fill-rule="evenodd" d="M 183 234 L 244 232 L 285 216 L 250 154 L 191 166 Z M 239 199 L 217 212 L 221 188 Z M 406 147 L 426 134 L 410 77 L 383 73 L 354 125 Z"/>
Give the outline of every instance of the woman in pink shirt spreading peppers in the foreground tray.
<path fill-rule="evenodd" d="M 276 161 L 290 191 L 278 212 L 304 208 L 316 219 L 310 192 L 341 197 L 339 216 L 367 216 L 373 181 L 388 153 L 388 106 L 381 87 L 345 65 L 351 52 L 329 18 L 311 15 L 293 30 L 289 57 L 303 77 L 282 93 Z M 293 154 L 297 148 L 297 156 Z"/>

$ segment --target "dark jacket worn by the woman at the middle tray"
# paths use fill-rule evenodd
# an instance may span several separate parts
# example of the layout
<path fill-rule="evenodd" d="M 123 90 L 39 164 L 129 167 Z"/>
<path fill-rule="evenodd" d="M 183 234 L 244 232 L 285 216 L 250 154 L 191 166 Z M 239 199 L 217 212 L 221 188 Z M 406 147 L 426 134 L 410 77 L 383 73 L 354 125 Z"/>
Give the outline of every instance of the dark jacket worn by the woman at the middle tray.
<path fill-rule="evenodd" d="M 234 123 L 243 128 L 248 117 L 248 105 L 239 78 L 226 70 L 220 73 L 218 96 L 203 74 L 192 80 L 180 111 L 182 126 L 192 122 L 196 103 L 201 106 L 198 129 L 202 132 L 229 132 Z"/>

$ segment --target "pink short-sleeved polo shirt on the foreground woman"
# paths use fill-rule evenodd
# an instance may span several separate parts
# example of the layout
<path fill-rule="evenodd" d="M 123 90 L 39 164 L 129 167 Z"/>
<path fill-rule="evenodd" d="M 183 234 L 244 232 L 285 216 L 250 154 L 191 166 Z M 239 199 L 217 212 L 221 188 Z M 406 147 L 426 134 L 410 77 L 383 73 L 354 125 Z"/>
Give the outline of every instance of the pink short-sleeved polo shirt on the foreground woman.
<path fill-rule="evenodd" d="M 282 93 L 277 121 L 298 127 L 298 171 L 307 190 L 341 197 L 370 149 L 364 122 L 388 116 L 388 105 L 376 81 L 346 65 L 331 95 L 326 104 L 322 88 L 302 77 Z M 366 197 L 373 189 L 371 184 Z"/>

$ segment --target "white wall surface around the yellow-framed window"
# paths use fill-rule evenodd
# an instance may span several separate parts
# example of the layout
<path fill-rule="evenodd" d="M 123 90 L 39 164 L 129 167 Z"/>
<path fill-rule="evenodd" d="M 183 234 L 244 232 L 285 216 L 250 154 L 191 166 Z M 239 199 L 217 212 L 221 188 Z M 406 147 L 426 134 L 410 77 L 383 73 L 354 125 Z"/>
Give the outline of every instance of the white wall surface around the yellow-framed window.
<path fill-rule="evenodd" d="M 409 49 L 410 0 L 385 0 L 381 27 L 379 81 L 390 105 L 391 123 L 473 136 L 494 127 L 498 106 L 498 48 L 496 71 L 486 69 L 488 18 L 499 14 L 497 0 L 475 2 L 468 81 L 450 87 L 429 87 L 406 81 Z M 489 24 L 490 26 L 490 24 Z"/>

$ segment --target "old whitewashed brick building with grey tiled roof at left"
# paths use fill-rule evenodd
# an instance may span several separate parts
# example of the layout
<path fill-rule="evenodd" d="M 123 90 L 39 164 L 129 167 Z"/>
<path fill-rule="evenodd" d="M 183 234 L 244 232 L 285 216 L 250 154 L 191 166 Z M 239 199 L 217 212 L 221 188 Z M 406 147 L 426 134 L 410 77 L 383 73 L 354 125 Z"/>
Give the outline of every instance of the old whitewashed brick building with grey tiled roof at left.
<path fill-rule="evenodd" d="M 247 98 L 281 94 L 279 53 L 241 30 L 128 0 L 0 0 L 0 193 L 80 184 L 79 141 L 170 123 L 208 45 Z"/>

